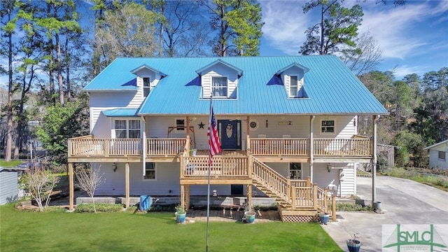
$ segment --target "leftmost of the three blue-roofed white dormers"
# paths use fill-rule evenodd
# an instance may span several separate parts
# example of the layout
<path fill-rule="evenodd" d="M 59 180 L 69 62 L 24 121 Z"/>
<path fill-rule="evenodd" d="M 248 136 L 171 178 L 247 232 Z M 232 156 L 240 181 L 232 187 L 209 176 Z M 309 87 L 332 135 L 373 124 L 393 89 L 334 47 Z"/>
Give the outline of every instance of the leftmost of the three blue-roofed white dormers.
<path fill-rule="evenodd" d="M 157 85 L 159 80 L 167 76 L 165 73 L 153 69 L 151 66 L 143 64 L 131 71 L 137 76 L 137 87 L 142 97 L 147 97 L 151 90 Z"/>

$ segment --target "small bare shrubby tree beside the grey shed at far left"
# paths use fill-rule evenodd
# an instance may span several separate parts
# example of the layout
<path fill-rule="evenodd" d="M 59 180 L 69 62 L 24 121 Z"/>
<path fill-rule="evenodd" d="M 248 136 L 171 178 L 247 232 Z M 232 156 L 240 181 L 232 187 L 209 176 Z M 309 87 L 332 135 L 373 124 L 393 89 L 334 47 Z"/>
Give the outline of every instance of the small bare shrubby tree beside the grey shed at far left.
<path fill-rule="evenodd" d="M 36 201 L 39 210 L 44 211 L 50 203 L 52 190 L 59 183 L 59 176 L 34 165 L 32 169 L 27 169 L 27 172 L 22 175 L 20 182 L 22 182 L 25 191 Z"/>

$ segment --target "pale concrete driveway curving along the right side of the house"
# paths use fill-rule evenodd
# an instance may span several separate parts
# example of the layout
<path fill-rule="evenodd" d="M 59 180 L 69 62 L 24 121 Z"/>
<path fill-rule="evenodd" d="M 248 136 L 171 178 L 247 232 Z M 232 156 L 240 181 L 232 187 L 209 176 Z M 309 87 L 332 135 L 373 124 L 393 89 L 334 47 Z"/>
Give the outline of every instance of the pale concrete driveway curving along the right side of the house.
<path fill-rule="evenodd" d="M 357 195 L 370 204 L 372 179 L 357 178 Z M 383 224 L 448 224 L 448 193 L 407 179 L 377 176 L 377 201 L 381 213 L 337 212 L 337 222 L 323 225 L 342 248 L 356 232 L 360 251 L 381 251 Z M 445 239 L 446 240 L 446 239 Z M 448 245 L 448 244 L 447 244 Z"/>

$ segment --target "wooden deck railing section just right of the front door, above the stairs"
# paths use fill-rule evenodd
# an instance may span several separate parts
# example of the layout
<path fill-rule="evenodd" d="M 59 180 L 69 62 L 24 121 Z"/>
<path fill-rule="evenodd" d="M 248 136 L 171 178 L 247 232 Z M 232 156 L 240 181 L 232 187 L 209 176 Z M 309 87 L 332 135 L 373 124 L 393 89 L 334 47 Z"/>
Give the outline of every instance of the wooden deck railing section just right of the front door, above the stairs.
<path fill-rule="evenodd" d="M 307 156 L 309 139 L 251 139 L 251 151 L 253 155 Z"/>

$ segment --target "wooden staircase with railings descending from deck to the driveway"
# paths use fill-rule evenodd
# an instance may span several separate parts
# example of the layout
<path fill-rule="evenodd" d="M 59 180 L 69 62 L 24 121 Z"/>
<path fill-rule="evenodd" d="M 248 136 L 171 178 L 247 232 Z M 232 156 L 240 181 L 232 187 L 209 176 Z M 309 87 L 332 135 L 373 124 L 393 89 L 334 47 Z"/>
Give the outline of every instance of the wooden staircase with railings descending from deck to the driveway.
<path fill-rule="evenodd" d="M 329 213 L 330 219 L 336 220 L 335 196 L 328 195 L 328 190 L 318 188 L 310 179 L 286 179 L 257 158 L 251 159 L 253 186 L 276 200 L 283 222 L 318 221 L 319 212 Z"/>

